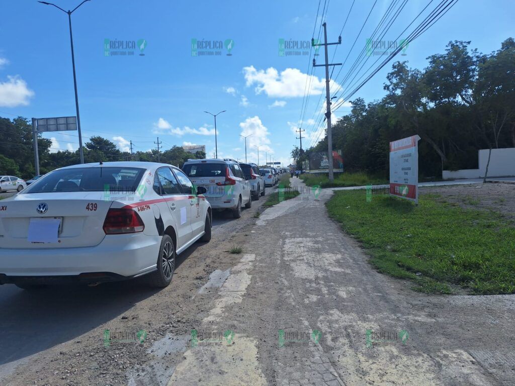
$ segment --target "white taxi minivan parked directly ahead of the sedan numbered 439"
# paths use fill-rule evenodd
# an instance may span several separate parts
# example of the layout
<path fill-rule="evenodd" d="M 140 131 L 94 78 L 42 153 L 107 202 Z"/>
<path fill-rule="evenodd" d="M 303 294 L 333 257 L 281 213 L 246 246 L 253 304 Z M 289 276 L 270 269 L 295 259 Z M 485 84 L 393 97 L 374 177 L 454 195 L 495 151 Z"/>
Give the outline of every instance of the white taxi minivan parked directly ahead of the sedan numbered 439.
<path fill-rule="evenodd" d="M 250 182 L 238 162 L 228 158 L 188 160 L 182 170 L 194 184 L 207 189 L 204 196 L 213 209 L 229 209 L 234 218 L 240 218 L 242 205 L 252 206 Z"/>

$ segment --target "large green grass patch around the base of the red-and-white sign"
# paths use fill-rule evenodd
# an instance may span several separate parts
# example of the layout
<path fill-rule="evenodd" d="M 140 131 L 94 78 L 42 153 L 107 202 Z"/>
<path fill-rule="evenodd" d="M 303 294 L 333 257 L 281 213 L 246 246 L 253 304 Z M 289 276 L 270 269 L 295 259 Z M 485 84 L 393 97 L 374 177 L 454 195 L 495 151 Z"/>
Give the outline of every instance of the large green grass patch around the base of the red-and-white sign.
<path fill-rule="evenodd" d="M 515 226 L 500 214 L 463 209 L 438 195 L 419 205 L 365 190 L 339 191 L 330 216 L 362 242 L 380 272 L 415 282 L 427 293 L 515 293 Z M 419 275 L 417 275 L 419 273 Z"/>

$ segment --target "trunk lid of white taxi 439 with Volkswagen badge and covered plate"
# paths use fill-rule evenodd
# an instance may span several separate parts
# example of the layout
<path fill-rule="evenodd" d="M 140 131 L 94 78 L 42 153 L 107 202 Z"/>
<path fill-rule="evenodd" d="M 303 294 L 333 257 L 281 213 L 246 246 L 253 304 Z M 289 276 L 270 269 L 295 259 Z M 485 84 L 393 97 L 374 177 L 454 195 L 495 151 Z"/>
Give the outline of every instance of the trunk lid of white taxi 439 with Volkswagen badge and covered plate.
<path fill-rule="evenodd" d="M 70 248 L 98 245 L 106 236 L 102 226 L 113 203 L 103 195 L 103 192 L 20 194 L 12 201 L 1 202 L 0 246 Z M 37 208 L 43 203 L 47 204 L 47 210 L 40 214 Z M 47 241 L 48 237 L 56 238 L 57 242 Z M 43 239 L 45 241 L 41 241 Z"/>

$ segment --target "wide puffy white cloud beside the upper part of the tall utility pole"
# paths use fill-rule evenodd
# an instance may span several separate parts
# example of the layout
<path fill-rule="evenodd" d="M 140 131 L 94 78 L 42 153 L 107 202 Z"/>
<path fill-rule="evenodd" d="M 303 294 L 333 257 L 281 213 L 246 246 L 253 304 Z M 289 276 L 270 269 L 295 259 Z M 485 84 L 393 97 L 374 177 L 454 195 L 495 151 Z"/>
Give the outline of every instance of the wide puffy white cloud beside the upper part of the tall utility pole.
<path fill-rule="evenodd" d="M 267 68 L 266 71 L 258 71 L 254 66 L 249 66 L 243 67 L 243 72 L 247 86 L 255 84 L 256 94 L 265 92 L 272 98 L 303 97 L 304 92 L 308 95 L 320 95 L 325 92 L 324 80 L 314 75 L 303 74 L 298 68 L 286 68 L 279 74 L 273 67 Z M 305 90 L 306 84 L 310 85 L 309 90 Z M 340 86 L 334 81 L 330 81 L 330 86 L 334 92 L 340 90 Z"/>

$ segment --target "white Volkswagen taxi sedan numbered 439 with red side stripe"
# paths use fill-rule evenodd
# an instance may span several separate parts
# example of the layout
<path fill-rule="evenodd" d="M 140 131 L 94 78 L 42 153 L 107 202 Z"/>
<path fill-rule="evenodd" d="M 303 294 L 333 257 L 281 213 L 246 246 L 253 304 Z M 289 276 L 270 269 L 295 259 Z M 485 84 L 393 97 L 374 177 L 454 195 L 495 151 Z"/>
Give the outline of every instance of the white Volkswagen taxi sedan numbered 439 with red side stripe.
<path fill-rule="evenodd" d="M 211 239 L 211 206 L 178 168 L 105 162 L 56 169 L 2 200 L 0 284 L 21 288 L 147 275 L 166 287 L 176 256 Z"/>

